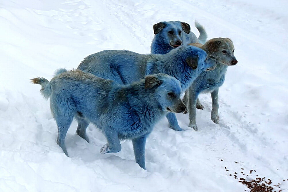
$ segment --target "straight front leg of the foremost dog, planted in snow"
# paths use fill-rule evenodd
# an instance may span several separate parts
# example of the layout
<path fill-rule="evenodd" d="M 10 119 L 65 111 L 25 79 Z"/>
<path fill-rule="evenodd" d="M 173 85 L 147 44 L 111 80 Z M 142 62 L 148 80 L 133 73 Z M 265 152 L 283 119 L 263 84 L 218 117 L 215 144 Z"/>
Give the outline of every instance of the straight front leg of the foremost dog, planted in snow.
<path fill-rule="evenodd" d="M 147 138 L 147 136 L 144 135 L 142 137 L 138 137 L 138 138 L 135 138 L 132 140 L 136 163 L 138 163 L 139 166 L 145 170 L 146 170 L 146 168 L 145 168 L 146 138 Z"/>

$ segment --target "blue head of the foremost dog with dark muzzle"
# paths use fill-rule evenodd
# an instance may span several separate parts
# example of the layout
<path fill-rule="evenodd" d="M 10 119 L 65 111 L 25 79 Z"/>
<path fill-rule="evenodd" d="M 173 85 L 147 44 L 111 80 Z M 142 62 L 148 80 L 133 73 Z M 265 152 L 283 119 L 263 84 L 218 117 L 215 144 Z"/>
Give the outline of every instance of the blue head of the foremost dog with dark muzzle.
<path fill-rule="evenodd" d="M 175 77 L 164 73 L 145 76 L 145 89 L 153 91 L 153 97 L 163 111 L 181 113 L 186 110 L 180 98 L 181 84 Z"/>

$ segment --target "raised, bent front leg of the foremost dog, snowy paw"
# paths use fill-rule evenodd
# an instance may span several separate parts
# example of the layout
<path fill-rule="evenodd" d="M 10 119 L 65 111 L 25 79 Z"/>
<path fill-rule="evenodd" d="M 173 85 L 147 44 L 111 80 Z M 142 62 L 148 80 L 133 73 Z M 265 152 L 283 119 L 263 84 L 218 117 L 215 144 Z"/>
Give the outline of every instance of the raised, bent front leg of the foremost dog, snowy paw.
<path fill-rule="evenodd" d="M 108 143 L 103 145 L 103 147 L 100 149 L 100 153 L 105 154 L 119 152 L 121 150 L 121 144 L 118 138 L 118 133 L 115 132 L 113 128 L 105 128 L 104 133 Z"/>

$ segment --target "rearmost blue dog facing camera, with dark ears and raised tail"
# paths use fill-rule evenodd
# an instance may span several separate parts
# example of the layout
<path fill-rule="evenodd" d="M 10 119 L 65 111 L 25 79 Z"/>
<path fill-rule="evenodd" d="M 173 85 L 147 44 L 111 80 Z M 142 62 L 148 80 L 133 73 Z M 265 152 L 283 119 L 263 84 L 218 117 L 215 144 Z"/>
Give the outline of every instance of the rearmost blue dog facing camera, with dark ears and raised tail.
<path fill-rule="evenodd" d="M 195 26 L 200 35 L 190 32 L 190 25 L 180 21 L 159 22 L 153 26 L 154 39 L 151 44 L 151 53 L 166 54 L 180 45 L 189 43 L 204 44 L 207 34 L 202 25 L 195 21 Z"/>

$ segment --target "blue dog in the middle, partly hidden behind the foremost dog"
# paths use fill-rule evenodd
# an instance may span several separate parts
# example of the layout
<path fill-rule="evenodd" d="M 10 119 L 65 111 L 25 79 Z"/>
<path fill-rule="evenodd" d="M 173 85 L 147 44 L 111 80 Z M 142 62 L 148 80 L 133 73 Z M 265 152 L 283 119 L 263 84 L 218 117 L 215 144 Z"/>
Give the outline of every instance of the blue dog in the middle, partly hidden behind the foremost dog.
<path fill-rule="evenodd" d="M 86 57 L 77 69 L 120 84 L 139 81 L 145 75 L 165 73 L 181 82 L 184 92 L 200 73 L 215 68 L 213 57 L 202 49 L 185 45 L 167 54 L 138 54 L 131 51 L 106 50 Z M 168 113 L 169 127 L 182 130 L 174 113 Z"/>

